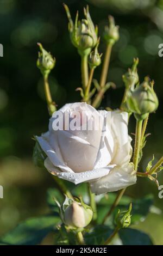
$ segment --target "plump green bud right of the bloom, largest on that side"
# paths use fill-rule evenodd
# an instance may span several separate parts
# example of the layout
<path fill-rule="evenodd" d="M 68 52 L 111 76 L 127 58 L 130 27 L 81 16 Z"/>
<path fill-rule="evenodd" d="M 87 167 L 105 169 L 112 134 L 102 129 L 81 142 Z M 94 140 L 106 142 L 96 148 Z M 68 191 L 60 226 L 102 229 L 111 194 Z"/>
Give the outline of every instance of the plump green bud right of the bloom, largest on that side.
<path fill-rule="evenodd" d="M 158 105 L 159 101 L 153 90 L 153 85 L 149 86 L 147 81 L 128 93 L 127 106 L 135 114 L 136 119 L 145 119 L 148 113 L 152 113 L 158 108 Z"/>

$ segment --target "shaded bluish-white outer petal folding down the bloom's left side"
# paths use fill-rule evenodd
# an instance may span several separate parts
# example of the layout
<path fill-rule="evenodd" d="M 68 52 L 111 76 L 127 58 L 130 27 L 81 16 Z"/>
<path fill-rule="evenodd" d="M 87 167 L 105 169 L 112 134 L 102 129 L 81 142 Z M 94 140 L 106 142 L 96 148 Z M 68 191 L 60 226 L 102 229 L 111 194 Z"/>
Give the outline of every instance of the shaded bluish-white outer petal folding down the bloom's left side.
<path fill-rule="evenodd" d="M 41 136 L 38 137 L 36 136 L 37 141 L 39 142 L 42 150 L 45 152 L 45 154 L 48 156 L 49 160 L 53 163 L 55 167 L 60 168 L 64 172 L 73 172 L 71 168 L 66 166 L 64 162 L 59 159 L 58 155 L 56 152 L 52 149 L 51 145 L 48 142 L 48 133 L 46 133 L 46 137 Z"/>

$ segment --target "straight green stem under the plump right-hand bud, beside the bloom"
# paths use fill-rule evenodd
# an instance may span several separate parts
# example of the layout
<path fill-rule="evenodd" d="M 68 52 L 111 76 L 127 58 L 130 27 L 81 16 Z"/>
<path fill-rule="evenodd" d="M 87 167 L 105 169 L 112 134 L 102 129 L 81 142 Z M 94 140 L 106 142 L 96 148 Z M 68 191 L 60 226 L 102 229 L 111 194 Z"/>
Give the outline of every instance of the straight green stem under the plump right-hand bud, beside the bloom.
<path fill-rule="evenodd" d="M 141 135 L 142 135 L 142 120 L 136 120 L 136 133 L 135 133 L 135 148 L 134 148 L 134 169 L 137 172 L 139 163 L 139 151 L 141 146 Z"/>

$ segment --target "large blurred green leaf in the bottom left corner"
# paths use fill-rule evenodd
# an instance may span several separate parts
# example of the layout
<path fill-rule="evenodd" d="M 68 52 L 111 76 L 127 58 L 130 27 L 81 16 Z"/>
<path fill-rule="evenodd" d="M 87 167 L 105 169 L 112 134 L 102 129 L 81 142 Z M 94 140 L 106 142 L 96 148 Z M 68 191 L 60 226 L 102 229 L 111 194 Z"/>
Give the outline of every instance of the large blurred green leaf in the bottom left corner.
<path fill-rule="evenodd" d="M 55 230 L 60 218 L 43 216 L 29 218 L 1 237 L 0 243 L 9 245 L 37 245 L 51 231 Z"/>

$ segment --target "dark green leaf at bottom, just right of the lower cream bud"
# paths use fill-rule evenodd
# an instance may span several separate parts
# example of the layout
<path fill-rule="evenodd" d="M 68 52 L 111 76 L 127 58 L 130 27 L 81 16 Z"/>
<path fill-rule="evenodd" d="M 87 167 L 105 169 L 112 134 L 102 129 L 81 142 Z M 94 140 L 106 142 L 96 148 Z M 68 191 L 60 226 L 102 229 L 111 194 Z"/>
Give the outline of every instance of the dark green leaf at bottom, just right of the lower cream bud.
<path fill-rule="evenodd" d="M 97 225 L 89 233 L 86 233 L 84 240 L 86 245 L 102 245 L 112 234 L 113 230 L 106 225 Z"/>

